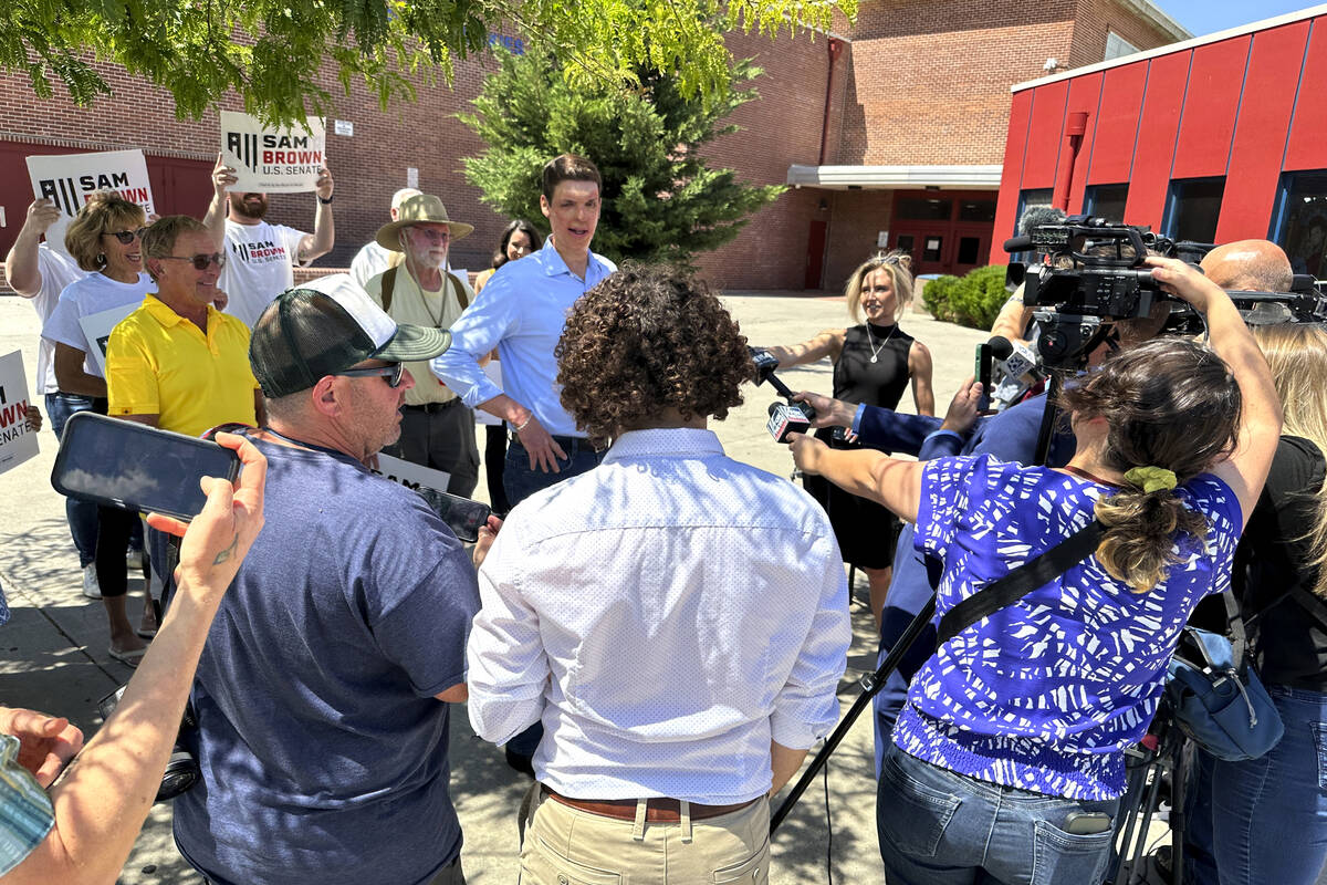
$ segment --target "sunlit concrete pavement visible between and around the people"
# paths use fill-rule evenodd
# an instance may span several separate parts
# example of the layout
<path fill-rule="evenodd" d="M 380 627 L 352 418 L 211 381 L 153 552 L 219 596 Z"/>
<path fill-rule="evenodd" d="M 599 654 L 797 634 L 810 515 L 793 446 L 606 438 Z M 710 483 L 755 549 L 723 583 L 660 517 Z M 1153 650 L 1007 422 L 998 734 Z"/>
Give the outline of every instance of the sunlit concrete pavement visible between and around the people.
<path fill-rule="evenodd" d="M 791 344 L 824 328 L 843 326 L 841 300 L 733 293 L 726 299 L 752 344 Z M 936 362 L 937 409 L 943 410 L 958 383 L 971 373 L 973 346 L 985 333 L 908 314 L 906 332 L 930 346 Z M 0 354 L 21 349 L 32 386 L 37 318 L 17 297 L 0 297 Z M 828 362 L 780 373 L 794 390 L 829 393 Z M 766 409 L 775 399 L 768 387 L 747 389 L 747 401 L 727 421 L 714 425 L 729 455 L 779 475 L 792 459 L 764 431 Z M 45 413 L 45 405 L 42 413 Z M 905 394 L 902 410 L 912 410 Z M 64 499 L 49 483 L 56 442 L 49 422 L 41 434 L 41 455 L 0 474 L 0 581 L 13 620 L 0 628 L 0 699 L 69 716 L 85 735 L 100 724 L 97 699 L 131 675 L 106 654 L 106 618 L 100 601 L 81 593 L 78 560 L 64 520 Z M 480 448 L 482 448 L 480 441 Z M 480 478 L 480 482 L 483 479 Z M 487 500 L 480 486 L 476 498 Z M 141 581 L 138 582 L 141 584 Z M 131 584 L 139 598 L 141 586 Z M 871 616 L 855 590 L 856 638 L 848 673 L 839 689 L 847 709 L 857 697 L 857 679 L 874 670 L 876 638 Z M 137 617 L 137 606 L 130 604 Z M 502 752 L 470 730 L 464 710 L 453 711 L 453 797 L 466 835 L 462 852 L 467 880 L 476 885 L 516 881 L 516 808 L 528 784 L 507 768 Z M 876 851 L 872 731 L 863 715 L 828 766 L 829 812 L 833 821 L 833 876 L 837 882 L 881 882 Z M 170 805 L 155 805 L 121 876 L 123 885 L 200 885 L 174 848 Z M 825 788 L 820 779 L 807 791 L 774 839 L 771 882 L 825 881 Z M 366 884 L 377 885 L 377 884 Z"/>

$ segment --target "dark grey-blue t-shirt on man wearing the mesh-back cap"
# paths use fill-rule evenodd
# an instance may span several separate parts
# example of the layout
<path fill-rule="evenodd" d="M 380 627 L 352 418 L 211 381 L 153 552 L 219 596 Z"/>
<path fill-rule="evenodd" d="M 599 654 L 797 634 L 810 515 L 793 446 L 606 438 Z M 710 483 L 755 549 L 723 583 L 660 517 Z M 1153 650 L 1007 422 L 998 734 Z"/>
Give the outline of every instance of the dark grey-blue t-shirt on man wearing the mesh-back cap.
<path fill-rule="evenodd" d="M 464 679 L 474 567 L 403 486 L 257 446 L 265 524 L 198 666 L 176 844 L 216 885 L 426 882 L 460 851 L 433 695 Z"/>

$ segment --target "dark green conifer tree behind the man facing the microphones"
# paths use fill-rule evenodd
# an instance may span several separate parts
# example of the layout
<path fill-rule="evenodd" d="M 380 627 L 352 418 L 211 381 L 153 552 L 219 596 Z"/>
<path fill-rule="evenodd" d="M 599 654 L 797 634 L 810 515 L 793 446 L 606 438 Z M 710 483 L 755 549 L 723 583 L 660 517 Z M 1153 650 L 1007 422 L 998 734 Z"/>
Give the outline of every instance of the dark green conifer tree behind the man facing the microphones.
<path fill-rule="evenodd" d="M 689 265 L 698 252 L 718 248 L 782 184 L 752 186 L 730 169 L 711 169 L 701 149 L 738 130 L 721 125 L 756 97 L 738 89 L 760 74 L 738 61 L 710 100 L 689 97 L 675 78 L 637 70 L 638 88 L 576 86 L 551 53 L 504 53 L 484 80 L 475 113 L 460 114 L 487 145 L 463 159 L 466 179 L 482 199 L 510 218 L 548 226 L 539 211 L 540 171 L 551 157 L 584 154 L 604 176 L 604 208 L 594 251 L 613 260 L 640 259 Z"/>

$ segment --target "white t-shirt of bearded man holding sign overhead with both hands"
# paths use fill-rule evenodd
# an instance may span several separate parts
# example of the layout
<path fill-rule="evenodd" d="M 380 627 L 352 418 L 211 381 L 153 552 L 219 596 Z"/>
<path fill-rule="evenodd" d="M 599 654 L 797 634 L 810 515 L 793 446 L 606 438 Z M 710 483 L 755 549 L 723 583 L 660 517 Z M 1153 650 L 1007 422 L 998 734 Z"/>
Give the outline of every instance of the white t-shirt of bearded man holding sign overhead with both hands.
<path fill-rule="evenodd" d="M 226 267 L 219 285 L 230 303 L 226 313 L 253 328 L 263 309 L 295 285 L 300 240 L 308 236 L 284 224 L 239 224 L 226 219 Z"/>

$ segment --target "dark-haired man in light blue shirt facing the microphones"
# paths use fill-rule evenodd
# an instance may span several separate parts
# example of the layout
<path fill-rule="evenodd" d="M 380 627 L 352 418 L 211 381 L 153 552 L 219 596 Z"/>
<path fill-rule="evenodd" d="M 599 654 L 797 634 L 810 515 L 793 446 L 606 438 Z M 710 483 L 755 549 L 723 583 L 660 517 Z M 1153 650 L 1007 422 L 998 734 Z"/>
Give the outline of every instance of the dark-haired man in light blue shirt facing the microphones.
<path fill-rule="evenodd" d="M 557 399 L 553 348 L 567 312 L 617 269 L 589 251 L 598 226 L 602 179 L 594 163 L 563 154 L 543 172 L 539 207 L 552 227 L 544 248 L 494 273 L 475 303 L 451 326 L 451 349 L 433 372 L 471 409 L 507 422 L 503 486 L 515 507 L 527 495 L 585 472 L 598 455 Z M 506 390 L 479 361 L 498 349 Z"/>

